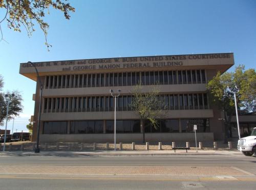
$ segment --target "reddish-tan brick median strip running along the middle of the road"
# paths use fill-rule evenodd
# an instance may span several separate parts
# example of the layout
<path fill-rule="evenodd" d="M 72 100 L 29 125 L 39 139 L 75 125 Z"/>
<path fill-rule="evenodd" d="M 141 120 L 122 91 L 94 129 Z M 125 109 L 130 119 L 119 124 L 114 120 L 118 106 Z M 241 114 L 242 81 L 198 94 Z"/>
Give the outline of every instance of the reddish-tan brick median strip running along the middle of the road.
<path fill-rule="evenodd" d="M 0 174 L 249 175 L 233 167 L 165 166 L 1 166 Z"/>

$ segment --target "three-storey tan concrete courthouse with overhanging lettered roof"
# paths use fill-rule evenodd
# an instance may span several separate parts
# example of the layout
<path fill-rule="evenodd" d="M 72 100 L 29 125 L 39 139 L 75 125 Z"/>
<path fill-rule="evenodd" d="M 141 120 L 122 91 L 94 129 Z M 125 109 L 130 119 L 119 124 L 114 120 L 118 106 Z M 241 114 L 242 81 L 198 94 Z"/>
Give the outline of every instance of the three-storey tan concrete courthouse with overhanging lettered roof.
<path fill-rule="evenodd" d="M 209 103 L 207 82 L 218 71 L 234 65 L 233 53 L 146 56 L 21 63 L 19 73 L 36 83 L 32 141 L 36 140 L 38 113 L 40 142 L 106 143 L 114 140 L 114 98 L 110 90 L 121 90 L 116 104 L 117 142 L 199 141 L 224 138 L 221 111 Z M 142 92 L 159 85 L 166 116 L 155 128 L 142 127 L 133 110 L 133 88 Z"/>

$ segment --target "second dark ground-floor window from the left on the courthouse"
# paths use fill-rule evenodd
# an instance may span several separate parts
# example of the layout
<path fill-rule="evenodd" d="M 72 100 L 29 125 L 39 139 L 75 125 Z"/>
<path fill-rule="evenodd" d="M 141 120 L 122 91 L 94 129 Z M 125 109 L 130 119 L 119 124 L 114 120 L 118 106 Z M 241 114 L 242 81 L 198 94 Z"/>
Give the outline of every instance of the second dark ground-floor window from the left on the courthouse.
<path fill-rule="evenodd" d="M 103 121 L 71 121 L 70 134 L 103 133 Z"/>

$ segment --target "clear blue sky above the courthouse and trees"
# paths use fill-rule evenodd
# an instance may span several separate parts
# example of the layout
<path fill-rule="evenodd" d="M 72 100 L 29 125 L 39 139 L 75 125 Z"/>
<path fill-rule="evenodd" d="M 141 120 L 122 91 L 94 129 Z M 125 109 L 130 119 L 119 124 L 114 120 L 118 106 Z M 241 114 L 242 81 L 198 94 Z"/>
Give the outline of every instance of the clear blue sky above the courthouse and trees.
<path fill-rule="evenodd" d="M 0 74 L 4 90 L 19 90 L 24 111 L 14 131 L 26 130 L 34 113 L 35 82 L 20 75 L 19 63 L 91 58 L 233 52 L 235 64 L 255 68 L 256 1 L 69 1 L 76 12 L 66 20 L 50 9 L 47 51 L 36 28 L 31 38 L 2 23 Z M 0 19 L 4 11 L 0 10 Z M 229 71 L 233 70 L 232 67 Z M 4 128 L 4 126 L 0 126 Z M 12 121 L 8 123 L 12 128 Z"/>

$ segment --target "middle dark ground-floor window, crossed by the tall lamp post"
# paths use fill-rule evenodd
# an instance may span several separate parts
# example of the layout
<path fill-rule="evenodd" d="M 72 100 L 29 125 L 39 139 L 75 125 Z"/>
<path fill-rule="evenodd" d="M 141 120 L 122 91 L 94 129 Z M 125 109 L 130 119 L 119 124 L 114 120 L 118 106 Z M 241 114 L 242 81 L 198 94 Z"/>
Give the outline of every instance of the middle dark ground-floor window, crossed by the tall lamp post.
<path fill-rule="evenodd" d="M 140 120 L 116 120 L 116 133 L 140 132 Z M 114 133 L 114 120 L 106 120 L 106 133 Z"/>

